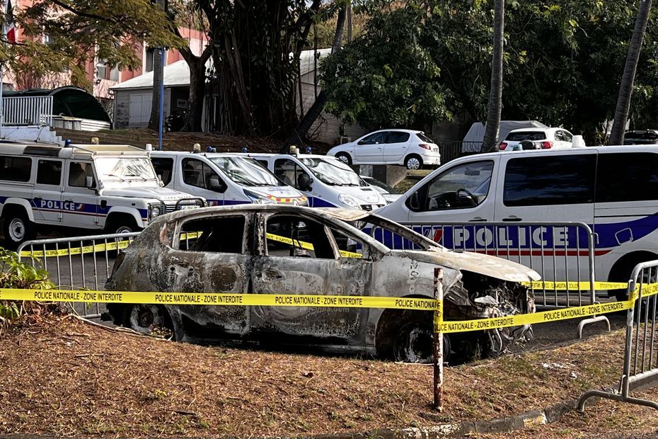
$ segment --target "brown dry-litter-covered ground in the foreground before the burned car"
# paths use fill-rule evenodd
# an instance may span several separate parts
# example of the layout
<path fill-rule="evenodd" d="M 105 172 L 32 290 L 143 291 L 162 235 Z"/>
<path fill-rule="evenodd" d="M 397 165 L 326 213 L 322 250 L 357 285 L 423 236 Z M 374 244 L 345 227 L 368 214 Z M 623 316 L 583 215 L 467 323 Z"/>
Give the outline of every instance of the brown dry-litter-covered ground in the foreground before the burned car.
<path fill-rule="evenodd" d="M 195 346 L 52 317 L 0 336 L 0 434 L 311 435 L 500 418 L 609 387 L 622 351 L 613 331 L 448 367 L 439 414 L 432 367 Z"/>

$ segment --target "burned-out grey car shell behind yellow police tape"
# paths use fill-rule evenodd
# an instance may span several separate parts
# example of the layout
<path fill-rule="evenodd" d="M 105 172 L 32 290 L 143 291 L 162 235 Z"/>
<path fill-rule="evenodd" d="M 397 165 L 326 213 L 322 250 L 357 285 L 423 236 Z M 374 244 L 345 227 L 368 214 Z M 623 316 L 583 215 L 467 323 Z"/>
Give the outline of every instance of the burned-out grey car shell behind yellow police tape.
<path fill-rule="evenodd" d="M 357 226 L 357 227 L 354 227 Z M 392 250 L 373 236 L 403 239 Z M 369 232 L 369 233 L 365 233 Z M 442 268 L 446 320 L 534 311 L 533 270 L 449 251 L 363 210 L 287 205 L 207 207 L 155 220 L 115 261 L 107 290 L 432 298 Z M 178 341 L 258 341 L 381 355 L 432 353 L 432 312 L 400 309 L 108 304 L 115 324 L 166 327 Z M 449 360 L 504 351 L 529 326 L 446 335 Z"/>

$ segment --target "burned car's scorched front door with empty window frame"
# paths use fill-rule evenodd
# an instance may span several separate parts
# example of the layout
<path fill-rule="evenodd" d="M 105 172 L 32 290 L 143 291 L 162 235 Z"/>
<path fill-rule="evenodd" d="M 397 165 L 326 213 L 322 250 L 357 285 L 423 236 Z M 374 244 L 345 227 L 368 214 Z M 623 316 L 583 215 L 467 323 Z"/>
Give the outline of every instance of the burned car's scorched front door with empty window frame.
<path fill-rule="evenodd" d="M 267 250 L 267 221 L 272 217 L 299 217 L 323 225 L 333 258 L 275 256 Z M 259 212 L 254 218 L 252 291 L 257 294 L 371 295 L 372 264 L 379 251 L 372 249 L 340 222 L 299 212 Z M 330 229 L 362 243 L 364 258 L 340 256 Z M 263 341 L 313 343 L 333 350 L 366 346 L 370 309 L 345 307 L 251 307 L 252 331 Z"/>

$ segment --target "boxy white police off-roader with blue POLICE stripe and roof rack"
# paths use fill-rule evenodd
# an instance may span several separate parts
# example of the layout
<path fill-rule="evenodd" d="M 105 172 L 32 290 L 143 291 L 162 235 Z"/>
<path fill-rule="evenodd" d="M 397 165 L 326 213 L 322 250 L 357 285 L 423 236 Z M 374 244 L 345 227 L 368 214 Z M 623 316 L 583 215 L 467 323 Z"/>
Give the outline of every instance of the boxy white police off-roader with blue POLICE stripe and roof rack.
<path fill-rule="evenodd" d="M 161 187 L 148 154 L 129 145 L 1 145 L 6 244 L 56 227 L 136 232 L 158 215 L 205 204 Z"/>

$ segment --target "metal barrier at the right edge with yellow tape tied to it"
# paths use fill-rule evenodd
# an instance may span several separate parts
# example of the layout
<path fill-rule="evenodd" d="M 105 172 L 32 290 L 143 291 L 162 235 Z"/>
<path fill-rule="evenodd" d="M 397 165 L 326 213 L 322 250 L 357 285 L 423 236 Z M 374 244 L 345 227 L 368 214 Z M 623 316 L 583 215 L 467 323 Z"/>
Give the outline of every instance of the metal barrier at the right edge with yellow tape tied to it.
<path fill-rule="evenodd" d="M 658 261 L 635 266 L 628 282 L 628 295 L 635 297 L 635 307 L 628 309 L 626 317 L 624 364 L 619 389 L 617 392 L 593 390 L 583 394 L 578 402 L 581 411 L 584 410 L 587 399 L 591 397 L 615 399 L 658 410 L 657 402 L 630 396 L 631 384 L 640 384 L 658 377 L 657 279 Z"/>

